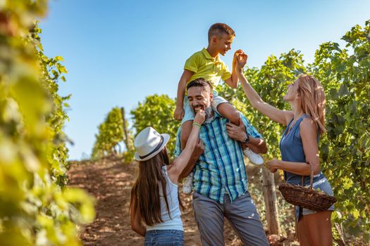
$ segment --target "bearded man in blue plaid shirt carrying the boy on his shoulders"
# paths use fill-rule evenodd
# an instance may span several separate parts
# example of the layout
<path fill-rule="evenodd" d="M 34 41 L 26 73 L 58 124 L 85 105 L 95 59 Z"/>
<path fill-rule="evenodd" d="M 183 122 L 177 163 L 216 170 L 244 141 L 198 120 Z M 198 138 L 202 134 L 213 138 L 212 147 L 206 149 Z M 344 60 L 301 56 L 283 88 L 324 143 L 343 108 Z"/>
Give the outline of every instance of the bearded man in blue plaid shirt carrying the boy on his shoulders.
<path fill-rule="evenodd" d="M 192 110 L 204 110 L 206 121 L 199 136 L 204 142 L 194 169 L 193 209 L 203 245 L 224 245 L 223 221 L 228 219 L 245 245 L 269 245 L 254 202 L 247 189 L 247 173 L 241 144 L 256 153 L 266 153 L 266 143 L 249 121 L 240 114 L 241 127 L 230 125 L 211 108 L 213 89 L 205 79 L 187 84 L 187 98 Z M 229 133 L 228 133 L 229 131 Z M 239 131 L 240 142 L 228 136 Z M 175 156 L 180 155 L 180 129 Z M 190 170 L 187 170 L 190 171 Z"/>

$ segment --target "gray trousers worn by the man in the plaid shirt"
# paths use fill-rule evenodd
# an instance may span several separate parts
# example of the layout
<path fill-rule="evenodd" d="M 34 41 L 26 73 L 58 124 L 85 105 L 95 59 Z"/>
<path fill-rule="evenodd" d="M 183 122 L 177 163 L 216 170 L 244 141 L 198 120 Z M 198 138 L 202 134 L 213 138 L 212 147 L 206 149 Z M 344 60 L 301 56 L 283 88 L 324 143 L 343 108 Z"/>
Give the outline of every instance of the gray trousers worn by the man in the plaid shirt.
<path fill-rule="evenodd" d="M 225 245 L 223 241 L 224 217 L 228 219 L 244 245 L 269 245 L 264 226 L 262 226 L 248 191 L 233 203 L 226 194 L 223 204 L 196 192 L 192 198 L 195 221 L 197 221 L 202 245 Z"/>

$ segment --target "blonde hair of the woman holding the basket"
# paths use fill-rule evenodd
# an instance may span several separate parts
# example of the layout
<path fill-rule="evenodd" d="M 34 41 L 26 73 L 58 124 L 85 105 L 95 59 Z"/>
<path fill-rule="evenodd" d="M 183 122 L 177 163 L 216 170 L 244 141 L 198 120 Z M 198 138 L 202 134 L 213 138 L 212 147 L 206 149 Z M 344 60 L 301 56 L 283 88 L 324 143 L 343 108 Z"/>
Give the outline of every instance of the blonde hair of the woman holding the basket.
<path fill-rule="evenodd" d="M 325 129 L 325 93 L 319 80 L 311 75 L 298 77 L 298 94 L 300 95 L 301 107 L 306 115 L 312 117 L 319 126 L 320 134 Z"/>

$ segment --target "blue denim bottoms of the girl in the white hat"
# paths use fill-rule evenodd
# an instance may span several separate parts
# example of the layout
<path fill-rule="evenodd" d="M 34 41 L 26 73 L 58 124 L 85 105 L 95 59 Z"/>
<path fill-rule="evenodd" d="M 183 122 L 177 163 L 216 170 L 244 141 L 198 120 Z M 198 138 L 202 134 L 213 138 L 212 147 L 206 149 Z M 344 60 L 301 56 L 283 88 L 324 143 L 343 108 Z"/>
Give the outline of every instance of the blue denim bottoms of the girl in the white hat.
<path fill-rule="evenodd" d="M 145 233 L 145 246 L 183 246 L 184 232 L 178 230 L 153 230 Z"/>

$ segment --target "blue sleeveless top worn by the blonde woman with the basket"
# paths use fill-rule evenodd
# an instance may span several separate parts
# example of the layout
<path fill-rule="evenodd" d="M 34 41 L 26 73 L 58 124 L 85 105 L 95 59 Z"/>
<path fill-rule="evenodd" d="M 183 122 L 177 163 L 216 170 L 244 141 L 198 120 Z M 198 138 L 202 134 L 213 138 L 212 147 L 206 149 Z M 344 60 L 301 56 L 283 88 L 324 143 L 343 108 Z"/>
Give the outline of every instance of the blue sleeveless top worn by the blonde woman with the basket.
<path fill-rule="evenodd" d="M 287 131 L 292 124 L 293 119 L 289 122 L 288 127 L 285 129 L 283 136 L 280 139 L 280 153 L 281 159 L 285 162 L 306 162 L 306 156 L 304 155 L 302 139 L 300 135 L 300 123 L 304 118 L 309 115 L 302 115 L 297 122 L 292 125 L 292 128 L 287 134 Z M 317 142 L 319 143 L 320 133 L 317 133 Z M 325 176 L 321 171 L 319 174 L 314 176 L 314 182 L 323 179 Z M 302 185 L 302 176 L 298 174 L 292 174 L 289 171 L 284 171 L 284 179 L 287 183 L 295 183 Z M 304 176 L 304 186 L 309 186 L 309 176 Z"/>

